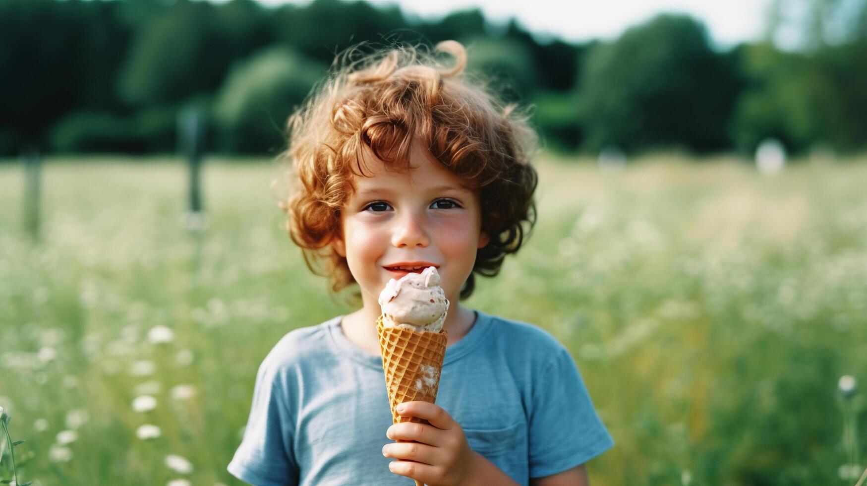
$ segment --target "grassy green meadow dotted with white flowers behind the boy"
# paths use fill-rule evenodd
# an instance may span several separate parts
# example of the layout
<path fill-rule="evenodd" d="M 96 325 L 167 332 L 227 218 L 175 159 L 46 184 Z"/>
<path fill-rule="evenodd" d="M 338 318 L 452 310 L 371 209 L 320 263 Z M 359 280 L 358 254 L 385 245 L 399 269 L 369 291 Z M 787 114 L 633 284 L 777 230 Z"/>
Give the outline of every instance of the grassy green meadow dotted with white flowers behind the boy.
<path fill-rule="evenodd" d="M 34 242 L 20 164 L 6 162 L 0 406 L 25 441 L 18 480 L 237 484 L 225 466 L 262 358 L 350 310 L 285 234 L 277 167 L 209 159 L 208 219 L 191 233 L 179 160 L 49 159 Z M 867 161 L 538 167 L 538 226 L 467 304 L 572 351 L 616 441 L 591 483 L 857 482 Z"/>

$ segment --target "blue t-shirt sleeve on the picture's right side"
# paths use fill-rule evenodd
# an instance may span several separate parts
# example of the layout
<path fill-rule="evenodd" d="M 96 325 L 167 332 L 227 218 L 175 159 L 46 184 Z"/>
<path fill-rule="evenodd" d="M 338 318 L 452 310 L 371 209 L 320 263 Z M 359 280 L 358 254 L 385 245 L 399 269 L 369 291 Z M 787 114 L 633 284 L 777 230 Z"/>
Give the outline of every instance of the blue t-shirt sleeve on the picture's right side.
<path fill-rule="evenodd" d="M 614 445 L 566 348 L 559 346 L 533 382 L 530 477 L 570 470 Z"/>

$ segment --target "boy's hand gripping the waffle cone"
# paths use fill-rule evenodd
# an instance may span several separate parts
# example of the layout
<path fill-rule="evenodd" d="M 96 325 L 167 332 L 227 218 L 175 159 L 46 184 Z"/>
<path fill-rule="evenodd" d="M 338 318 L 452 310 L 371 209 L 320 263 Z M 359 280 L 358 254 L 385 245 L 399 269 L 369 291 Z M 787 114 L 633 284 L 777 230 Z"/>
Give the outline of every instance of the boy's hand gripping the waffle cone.
<path fill-rule="evenodd" d="M 400 404 L 401 417 L 418 417 L 428 424 L 404 422 L 388 427 L 386 437 L 414 443 L 387 443 L 382 455 L 395 457 L 388 463 L 394 474 L 413 478 L 428 486 L 463 484 L 473 474 L 475 453 L 466 443 L 460 424 L 446 410 L 427 402 Z"/>

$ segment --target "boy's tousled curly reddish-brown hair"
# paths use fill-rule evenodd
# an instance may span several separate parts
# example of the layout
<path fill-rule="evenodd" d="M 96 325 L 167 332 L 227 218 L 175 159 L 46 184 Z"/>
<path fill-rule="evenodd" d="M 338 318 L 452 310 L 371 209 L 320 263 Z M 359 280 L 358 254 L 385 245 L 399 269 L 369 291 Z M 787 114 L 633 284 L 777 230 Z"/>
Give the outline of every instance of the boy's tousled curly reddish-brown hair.
<path fill-rule="evenodd" d="M 332 291 L 355 283 L 346 258 L 330 243 L 341 236 L 340 211 L 354 194 L 352 179 L 364 175 L 362 148 L 387 167 L 408 170 L 410 145 L 418 137 L 437 161 L 479 191 L 481 229 L 490 240 L 477 250 L 461 288 L 460 299 L 466 299 L 475 287 L 473 274 L 497 275 L 505 255 L 518 251 L 536 223 L 538 174 L 530 159 L 538 136 L 516 104 L 501 102 L 486 82 L 468 82 L 460 43 L 434 48 L 454 56 L 451 68 L 424 46 L 401 44 L 352 60 L 363 45 L 336 56 L 329 76 L 289 117 L 288 148 L 277 157 L 290 166 L 290 196 L 280 201 L 286 229 L 310 271 L 329 277 Z"/>

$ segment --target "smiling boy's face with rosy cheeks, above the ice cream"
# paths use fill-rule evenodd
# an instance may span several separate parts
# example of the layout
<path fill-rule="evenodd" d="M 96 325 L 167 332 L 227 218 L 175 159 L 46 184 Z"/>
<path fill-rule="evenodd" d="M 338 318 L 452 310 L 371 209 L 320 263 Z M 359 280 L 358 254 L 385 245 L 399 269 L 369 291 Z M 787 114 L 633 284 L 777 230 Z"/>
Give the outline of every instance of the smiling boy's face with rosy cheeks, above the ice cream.
<path fill-rule="evenodd" d="M 355 194 L 341 209 L 343 238 L 332 245 L 347 259 L 366 307 L 378 306 L 389 279 L 406 274 L 387 268 L 401 262 L 436 266 L 446 298 L 456 304 L 476 250 L 488 242 L 478 191 L 464 187 L 420 143 L 410 161 L 408 174 L 388 172 L 366 149 L 364 173 L 373 176 L 354 176 Z"/>

